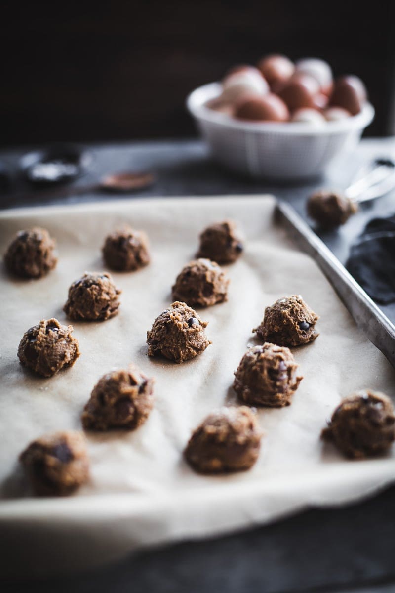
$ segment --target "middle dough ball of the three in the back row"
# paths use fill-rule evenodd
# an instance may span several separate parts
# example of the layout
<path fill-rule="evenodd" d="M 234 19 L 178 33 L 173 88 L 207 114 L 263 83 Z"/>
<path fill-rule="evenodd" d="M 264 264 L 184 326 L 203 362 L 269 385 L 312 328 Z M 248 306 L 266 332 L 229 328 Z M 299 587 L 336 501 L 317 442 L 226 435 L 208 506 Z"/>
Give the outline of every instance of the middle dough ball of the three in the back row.
<path fill-rule="evenodd" d="M 130 227 L 108 235 L 102 253 L 107 266 L 119 272 L 133 272 L 150 262 L 147 235 Z"/>

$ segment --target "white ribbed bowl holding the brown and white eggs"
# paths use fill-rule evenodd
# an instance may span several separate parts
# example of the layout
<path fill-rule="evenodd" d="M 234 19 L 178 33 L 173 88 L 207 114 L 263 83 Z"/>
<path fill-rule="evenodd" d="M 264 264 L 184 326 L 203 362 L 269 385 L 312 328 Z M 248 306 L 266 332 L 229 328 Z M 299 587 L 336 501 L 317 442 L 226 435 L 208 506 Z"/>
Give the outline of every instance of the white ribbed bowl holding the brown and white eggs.
<path fill-rule="evenodd" d="M 216 160 L 252 177 L 318 176 L 335 157 L 358 144 L 374 117 L 374 109 L 367 103 L 358 115 L 320 127 L 296 122 L 244 122 L 205 107 L 220 93 L 217 82 L 197 88 L 187 98 L 188 110 Z"/>

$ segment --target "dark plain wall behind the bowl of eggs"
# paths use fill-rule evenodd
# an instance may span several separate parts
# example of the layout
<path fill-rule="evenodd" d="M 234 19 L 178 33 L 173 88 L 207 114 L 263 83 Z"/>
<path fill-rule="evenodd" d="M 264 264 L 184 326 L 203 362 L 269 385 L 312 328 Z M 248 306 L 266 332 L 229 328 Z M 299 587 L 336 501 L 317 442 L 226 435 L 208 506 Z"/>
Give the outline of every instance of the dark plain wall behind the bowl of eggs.
<path fill-rule="evenodd" d="M 392 130 L 395 3 L 5 2 L 0 144 L 191 136 L 186 95 L 265 53 L 361 76 Z"/>

